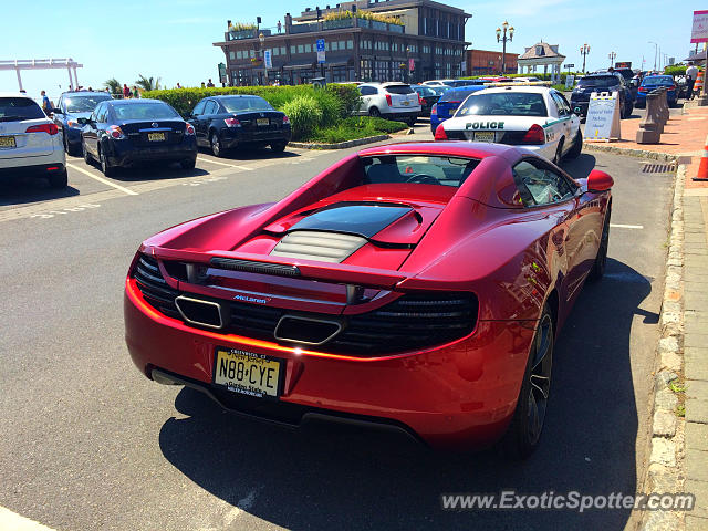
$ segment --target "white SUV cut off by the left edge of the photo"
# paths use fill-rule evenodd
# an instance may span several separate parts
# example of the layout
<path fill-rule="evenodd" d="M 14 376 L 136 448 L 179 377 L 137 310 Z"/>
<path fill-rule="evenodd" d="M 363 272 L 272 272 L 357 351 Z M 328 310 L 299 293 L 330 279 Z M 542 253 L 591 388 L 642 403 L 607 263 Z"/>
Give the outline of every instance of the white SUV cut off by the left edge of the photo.
<path fill-rule="evenodd" d="M 0 92 L 0 176 L 34 174 L 66 187 L 66 155 L 56 124 L 27 94 Z"/>

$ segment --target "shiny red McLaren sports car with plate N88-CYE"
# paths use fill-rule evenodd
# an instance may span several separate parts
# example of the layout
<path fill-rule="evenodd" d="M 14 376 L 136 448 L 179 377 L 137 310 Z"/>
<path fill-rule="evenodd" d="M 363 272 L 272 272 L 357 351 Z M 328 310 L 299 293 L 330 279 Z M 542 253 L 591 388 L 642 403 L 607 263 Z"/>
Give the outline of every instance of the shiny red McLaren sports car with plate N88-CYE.
<path fill-rule="evenodd" d="M 131 356 L 242 415 L 525 457 L 558 331 L 605 268 L 612 185 L 511 146 L 364 149 L 278 202 L 147 239 Z"/>

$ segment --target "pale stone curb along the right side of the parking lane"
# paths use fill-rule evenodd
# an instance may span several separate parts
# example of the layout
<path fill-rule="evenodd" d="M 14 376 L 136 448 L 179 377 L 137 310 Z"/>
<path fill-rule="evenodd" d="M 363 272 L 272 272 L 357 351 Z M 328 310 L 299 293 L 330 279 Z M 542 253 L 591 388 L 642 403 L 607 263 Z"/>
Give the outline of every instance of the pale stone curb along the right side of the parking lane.
<path fill-rule="evenodd" d="M 684 374 L 684 183 L 686 166 L 676 171 L 669 249 L 662 302 L 662 339 L 656 353 L 652 448 L 641 492 L 683 492 L 686 421 L 678 413 Z M 647 511 L 644 531 L 685 529 L 685 512 Z"/>

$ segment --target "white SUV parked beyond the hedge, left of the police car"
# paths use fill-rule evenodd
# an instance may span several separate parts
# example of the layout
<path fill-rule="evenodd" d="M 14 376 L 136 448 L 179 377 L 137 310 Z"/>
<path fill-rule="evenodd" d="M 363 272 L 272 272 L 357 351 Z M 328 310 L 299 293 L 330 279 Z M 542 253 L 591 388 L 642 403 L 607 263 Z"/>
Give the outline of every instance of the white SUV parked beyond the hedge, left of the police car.
<path fill-rule="evenodd" d="M 406 122 L 413 126 L 420 114 L 420 98 L 406 83 L 364 83 L 358 85 L 362 105 L 358 114 Z"/>

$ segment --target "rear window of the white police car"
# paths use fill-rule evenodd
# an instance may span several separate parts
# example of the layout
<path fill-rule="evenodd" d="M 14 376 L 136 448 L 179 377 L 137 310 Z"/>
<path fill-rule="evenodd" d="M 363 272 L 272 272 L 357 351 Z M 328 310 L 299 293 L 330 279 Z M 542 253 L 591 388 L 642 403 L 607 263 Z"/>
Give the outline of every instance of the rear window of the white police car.
<path fill-rule="evenodd" d="M 456 116 L 548 116 L 543 95 L 532 92 L 478 93 L 468 97 Z"/>

